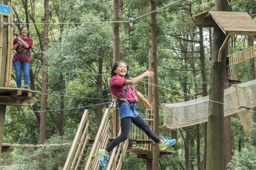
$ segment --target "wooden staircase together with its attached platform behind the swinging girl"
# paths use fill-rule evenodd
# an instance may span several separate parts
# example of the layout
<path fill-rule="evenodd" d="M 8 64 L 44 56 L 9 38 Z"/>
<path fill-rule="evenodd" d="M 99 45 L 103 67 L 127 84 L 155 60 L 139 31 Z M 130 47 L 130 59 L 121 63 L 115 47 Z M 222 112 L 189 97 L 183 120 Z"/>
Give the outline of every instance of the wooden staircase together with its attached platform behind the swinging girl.
<path fill-rule="evenodd" d="M 95 139 L 91 139 L 89 136 L 89 121 L 87 115 L 88 110 L 85 110 L 63 170 L 101 169 L 98 162 L 98 150 L 106 148 L 114 137 L 117 137 L 121 132 L 117 108 L 112 107 L 112 109 L 107 108 L 105 110 Z M 110 117 L 112 117 L 112 127 L 110 126 Z M 147 121 L 150 124 L 150 127 L 153 128 L 153 110 L 146 111 L 145 121 Z M 112 131 L 112 133 L 109 131 Z M 132 124 L 129 138 L 113 149 L 106 169 L 121 170 L 126 152 L 129 152 L 129 154 L 136 154 L 138 158 L 152 159 L 152 144 L 153 141 L 150 140 L 141 129 Z M 163 155 L 171 154 L 172 152 L 169 151 L 168 148 L 164 151 L 160 151 L 160 159 Z M 152 167 L 147 169 L 152 169 Z"/>

